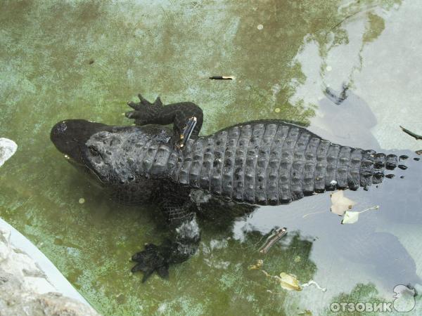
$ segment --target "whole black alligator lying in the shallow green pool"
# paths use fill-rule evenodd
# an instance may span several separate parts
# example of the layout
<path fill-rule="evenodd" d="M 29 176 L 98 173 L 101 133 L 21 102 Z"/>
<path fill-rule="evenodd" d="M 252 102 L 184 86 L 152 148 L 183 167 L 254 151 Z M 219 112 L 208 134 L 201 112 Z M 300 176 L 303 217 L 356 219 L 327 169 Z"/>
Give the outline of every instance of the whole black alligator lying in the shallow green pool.
<path fill-rule="evenodd" d="M 174 234 L 132 257 L 143 282 L 186 261 L 200 241 L 193 191 L 240 204 L 289 204 L 328 190 L 367 190 L 399 164 L 395 154 L 330 143 L 281 120 L 248 121 L 200 136 L 203 111 L 194 103 L 163 105 L 139 95 L 129 102 L 132 126 L 67 119 L 51 129 L 56 148 L 77 169 L 127 204 L 158 205 Z M 188 122 L 196 124 L 186 136 Z M 173 129 L 167 125 L 172 124 Z M 392 175 L 386 175 L 390 178 Z"/>

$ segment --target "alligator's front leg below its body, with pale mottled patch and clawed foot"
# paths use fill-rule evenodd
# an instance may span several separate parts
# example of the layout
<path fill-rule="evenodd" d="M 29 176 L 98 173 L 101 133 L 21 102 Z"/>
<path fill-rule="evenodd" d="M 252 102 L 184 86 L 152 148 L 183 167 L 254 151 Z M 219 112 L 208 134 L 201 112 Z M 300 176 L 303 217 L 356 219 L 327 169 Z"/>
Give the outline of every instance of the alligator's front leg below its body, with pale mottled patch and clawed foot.
<path fill-rule="evenodd" d="M 145 282 L 153 272 L 167 278 L 169 266 L 188 260 L 196 253 L 200 242 L 194 211 L 196 206 L 188 197 L 188 191 L 165 188 L 161 192 L 158 203 L 168 221 L 171 236 L 158 246 L 146 244 L 145 250 L 132 256 L 132 261 L 136 262 L 132 272 L 142 271 L 142 282 Z"/>

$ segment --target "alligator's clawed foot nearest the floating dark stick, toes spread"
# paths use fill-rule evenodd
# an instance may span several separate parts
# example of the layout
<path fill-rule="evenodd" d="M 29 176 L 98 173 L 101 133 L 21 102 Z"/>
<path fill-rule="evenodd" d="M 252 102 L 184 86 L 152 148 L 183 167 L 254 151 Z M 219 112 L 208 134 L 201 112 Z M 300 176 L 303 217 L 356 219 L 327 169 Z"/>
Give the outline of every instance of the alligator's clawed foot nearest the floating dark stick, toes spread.
<path fill-rule="evenodd" d="M 141 94 L 138 95 L 138 98 L 139 103 L 134 103 L 132 101 L 127 103 L 134 111 L 126 112 L 124 115 L 126 115 L 128 119 L 134 119 L 136 125 L 151 124 L 151 119 L 162 110 L 161 99 L 158 97 L 155 99 L 154 103 L 151 103 L 143 98 Z"/>

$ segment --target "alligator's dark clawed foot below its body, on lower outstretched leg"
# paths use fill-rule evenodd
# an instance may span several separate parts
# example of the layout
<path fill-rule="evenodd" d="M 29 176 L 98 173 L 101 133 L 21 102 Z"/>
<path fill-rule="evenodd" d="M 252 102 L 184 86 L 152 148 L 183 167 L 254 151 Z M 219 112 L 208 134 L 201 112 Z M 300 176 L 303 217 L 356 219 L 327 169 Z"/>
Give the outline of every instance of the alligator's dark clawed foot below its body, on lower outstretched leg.
<path fill-rule="evenodd" d="M 142 271 L 142 282 L 146 282 L 154 271 L 160 277 L 167 279 L 169 277 L 169 263 L 165 256 L 165 249 L 155 244 L 146 244 L 145 250 L 140 251 L 132 256 L 132 261 L 136 261 L 136 265 L 132 268 L 132 272 Z"/>

